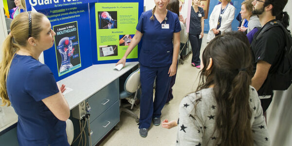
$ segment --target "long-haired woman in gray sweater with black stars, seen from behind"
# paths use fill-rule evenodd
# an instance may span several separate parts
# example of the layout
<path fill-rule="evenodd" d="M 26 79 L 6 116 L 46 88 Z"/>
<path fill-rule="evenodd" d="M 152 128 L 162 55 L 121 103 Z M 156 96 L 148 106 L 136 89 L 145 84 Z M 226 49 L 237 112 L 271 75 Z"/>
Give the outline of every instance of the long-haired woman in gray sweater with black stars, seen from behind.
<path fill-rule="evenodd" d="M 236 48 L 236 49 L 235 49 Z M 252 78 L 252 55 L 246 43 L 232 36 L 210 41 L 203 55 L 201 82 L 183 98 L 177 146 L 270 146 L 267 126 Z"/>

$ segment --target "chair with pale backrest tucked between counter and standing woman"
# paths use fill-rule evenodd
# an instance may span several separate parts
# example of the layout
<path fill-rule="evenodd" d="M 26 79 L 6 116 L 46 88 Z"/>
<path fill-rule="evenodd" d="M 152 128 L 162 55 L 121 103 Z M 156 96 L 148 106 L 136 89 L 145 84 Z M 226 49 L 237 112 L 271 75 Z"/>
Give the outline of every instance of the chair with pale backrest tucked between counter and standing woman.
<path fill-rule="evenodd" d="M 134 107 L 134 104 L 137 100 L 137 97 L 140 97 L 140 68 L 128 75 L 125 84 L 124 90 L 120 90 L 120 99 L 126 99 L 128 104 L 121 105 L 120 112 L 124 111 L 136 118 L 136 122 L 139 122 L 138 115 L 131 111 Z M 130 107 L 130 110 L 128 109 Z"/>

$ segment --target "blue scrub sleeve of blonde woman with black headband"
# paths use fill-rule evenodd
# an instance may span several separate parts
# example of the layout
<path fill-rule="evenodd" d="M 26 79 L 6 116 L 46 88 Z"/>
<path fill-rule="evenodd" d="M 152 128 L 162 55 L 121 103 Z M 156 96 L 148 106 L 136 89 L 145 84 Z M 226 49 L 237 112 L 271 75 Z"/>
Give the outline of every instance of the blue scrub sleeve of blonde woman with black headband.
<path fill-rule="evenodd" d="M 36 101 L 59 92 L 53 73 L 44 64 L 32 67 L 24 84 L 27 93 Z"/>

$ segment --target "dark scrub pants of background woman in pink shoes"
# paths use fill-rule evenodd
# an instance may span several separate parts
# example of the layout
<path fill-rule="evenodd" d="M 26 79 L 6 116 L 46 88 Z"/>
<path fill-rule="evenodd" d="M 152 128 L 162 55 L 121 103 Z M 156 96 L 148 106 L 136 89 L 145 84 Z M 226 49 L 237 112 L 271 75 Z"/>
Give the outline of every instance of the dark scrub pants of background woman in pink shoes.
<path fill-rule="evenodd" d="M 200 51 L 201 51 L 201 44 L 202 44 L 202 39 L 199 39 L 200 35 L 191 35 L 189 34 L 189 40 L 191 42 L 192 46 L 192 63 L 195 63 L 196 66 L 201 65 L 201 60 L 200 60 Z"/>

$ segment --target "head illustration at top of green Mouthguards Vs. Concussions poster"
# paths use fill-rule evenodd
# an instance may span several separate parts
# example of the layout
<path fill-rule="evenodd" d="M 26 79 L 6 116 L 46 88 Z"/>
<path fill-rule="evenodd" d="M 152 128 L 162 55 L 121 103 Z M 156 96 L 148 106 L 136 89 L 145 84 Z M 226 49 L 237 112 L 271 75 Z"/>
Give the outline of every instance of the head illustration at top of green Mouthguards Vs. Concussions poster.
<path fill-rule="evenodd" d="M 98 12 L 98 29 L 118 28 L 117 11 Z"/>

